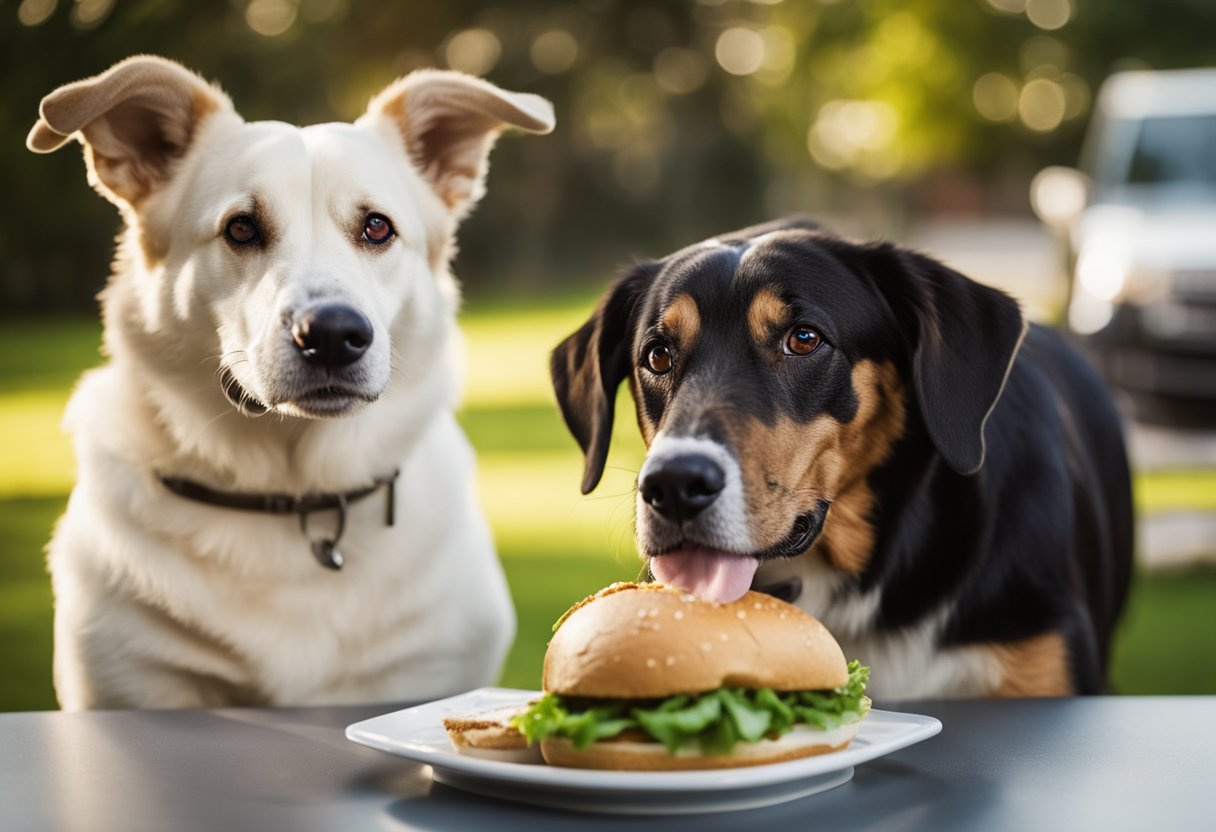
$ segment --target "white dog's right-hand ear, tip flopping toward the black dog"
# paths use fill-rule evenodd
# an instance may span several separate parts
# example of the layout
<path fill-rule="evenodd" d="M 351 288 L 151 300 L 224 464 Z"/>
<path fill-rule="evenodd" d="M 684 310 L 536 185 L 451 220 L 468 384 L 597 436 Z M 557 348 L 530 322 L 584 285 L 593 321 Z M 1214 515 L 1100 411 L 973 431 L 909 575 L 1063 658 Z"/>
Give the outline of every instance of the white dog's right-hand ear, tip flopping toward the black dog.
<path fill-rule="evenodd" d="M 480 78 L 418 69 L 390 84 L 367 106 L 387 116 L 417 169 L 460 219 L 484 191 L 486 159 L 499 134 L 553 129 L 553 105 L 530 92 L 510 92 Z"/>

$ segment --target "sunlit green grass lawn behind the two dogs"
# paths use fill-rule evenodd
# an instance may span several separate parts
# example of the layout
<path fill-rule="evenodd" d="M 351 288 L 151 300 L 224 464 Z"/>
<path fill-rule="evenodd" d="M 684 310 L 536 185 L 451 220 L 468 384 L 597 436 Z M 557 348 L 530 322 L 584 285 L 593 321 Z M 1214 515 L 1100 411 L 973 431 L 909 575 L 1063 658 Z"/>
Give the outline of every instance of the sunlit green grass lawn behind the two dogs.
<path fill-rule="evenodd" d="M 550 626 L 573 601 L 636 577 L 640 567 L 632 485 L 643 451 L 627 397 L 618 401 L 604 482 L 582 496 L 582 460 L 548 388 L 548 350 L 591 305 L 592 298 L 474 305 L 462 317 L 461 421 L 478 449 L 478 485 L 519 615 L 501 679 L 508 686 L 539 684 Z M 55 707 L 43 547 L 72 484 L 71 444 L 58 421 L 80 371 L 101 360 L 98 337 L 91 321 L 0 325 L 0 710 Z M 1216 473 L 1138 477 L 1137 501 L 1152 510 L 1216 510 Z M 1216 569 L 1138 575 L 1115 648 L 1115 686 L 1125 693 L 1216 692 L 1216 641 L 1206 637 L 1214 625 Z"/>

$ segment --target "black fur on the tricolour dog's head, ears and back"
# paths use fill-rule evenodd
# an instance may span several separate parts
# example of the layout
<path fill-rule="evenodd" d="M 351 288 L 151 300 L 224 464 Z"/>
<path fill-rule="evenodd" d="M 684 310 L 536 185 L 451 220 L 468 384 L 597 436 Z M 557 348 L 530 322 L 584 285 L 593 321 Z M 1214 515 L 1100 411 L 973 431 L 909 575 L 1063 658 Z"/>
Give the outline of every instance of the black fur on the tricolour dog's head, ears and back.
<path fill-rule="evenodd" d="M 805 232 L 742 259 L 742 243 L 783 229 Z M 942 647 L 1058 633 L 1073 690 L 1100 692 L 1131 577 L 1132 505 L 1120 418 L 1097 375 L 1055 332 L 1028 328 L 1007 296 L 916 252 L 805 220 L 719 242 L 638 265 L 554 350 L 557 398 L 586 451 L 584 493 L 602 474 L 615 389 L 631 373 L 654 423 L 697 412 L 687 403 L 705 390 L 765 422 L 849 422 L 851 369 L 894 362 L 907 418 L 868 473 L 876 540 L 855 585 L 882 588 L 876 626 L 897 631 L 945 606 Z M 814 322 L 823 347 L 777 364 L 758 352 L 738 319 L 760 288 Z M 713 337 L 669 373 L 636 370 L 679 293 Z M 713 421 L 696 417 L 711 434 Z"/>

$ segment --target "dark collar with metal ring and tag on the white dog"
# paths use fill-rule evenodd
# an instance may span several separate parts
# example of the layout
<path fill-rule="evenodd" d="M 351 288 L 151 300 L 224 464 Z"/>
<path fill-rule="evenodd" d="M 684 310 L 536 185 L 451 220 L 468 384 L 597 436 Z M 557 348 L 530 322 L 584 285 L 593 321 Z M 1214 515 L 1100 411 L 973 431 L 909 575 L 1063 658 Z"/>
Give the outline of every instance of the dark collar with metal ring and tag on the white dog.
<path fill-rule="evenodd" d="M 161 482 L 170 491 L 180 497 L 206 502 L 221 508 L 236 508 L 238 511 L 260 511 L 268 515 L 299 515 L 300 533 L 313 545 L 313 557 L 328 569 L 340 569 L 343 563 L 342 552 L 338 551 L 338 540 L 347 528 L 347 507 L 351 502 L 358 502 L 381 488 L 384 489 L 384 524 L 393 525 L 396 505 L 396 478 L 400 471 L 394 468 L 387 477 L 378 477 L 366 488 L 343 494 L 305 494 L 292 496 L 291 494 L 244 494 L 240 491 L 216 491 L 201 483 L 180 477 L 161 477 Z M 332 538 L 313 540 L 308 533 L 309 515 L 316 511 L 337 511 L 338 527 Z"/>

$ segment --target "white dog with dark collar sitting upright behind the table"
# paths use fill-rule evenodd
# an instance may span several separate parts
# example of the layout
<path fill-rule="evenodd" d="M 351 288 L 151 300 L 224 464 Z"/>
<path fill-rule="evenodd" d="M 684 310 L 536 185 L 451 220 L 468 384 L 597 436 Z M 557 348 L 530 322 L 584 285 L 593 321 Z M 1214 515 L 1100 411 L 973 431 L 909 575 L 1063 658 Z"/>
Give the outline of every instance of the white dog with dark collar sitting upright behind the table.
<path fill-rule="evenodd" d="M 126 229 L 50 545 L 67 709 L 405 701 L 490 682 L 514 615 L 457 400 L 457 224 L 552 107 L 452 72 L 354 124 L 246 123 L 134 57 L 43 100 Z M 328 568 L 326 568 L 328 567 Z"/>

